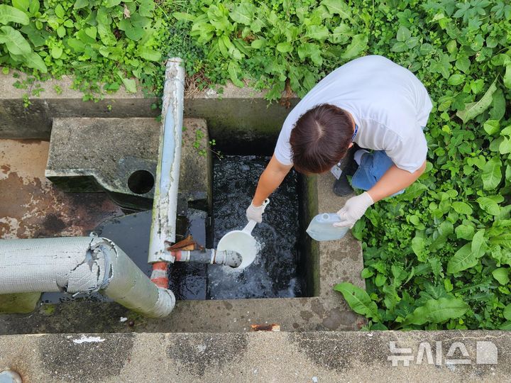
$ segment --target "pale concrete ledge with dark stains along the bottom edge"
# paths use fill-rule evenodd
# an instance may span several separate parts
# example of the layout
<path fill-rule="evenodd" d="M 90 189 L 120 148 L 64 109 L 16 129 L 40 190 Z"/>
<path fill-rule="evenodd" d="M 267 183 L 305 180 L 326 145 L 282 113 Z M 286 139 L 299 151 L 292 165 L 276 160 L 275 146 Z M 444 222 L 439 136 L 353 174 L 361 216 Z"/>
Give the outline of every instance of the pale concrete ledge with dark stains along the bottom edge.
<path fill-rule="evenodd" d="M 10 335 L 0 370 L 27 383 L 509 382 L 510 350 L 505 331 Z"/>

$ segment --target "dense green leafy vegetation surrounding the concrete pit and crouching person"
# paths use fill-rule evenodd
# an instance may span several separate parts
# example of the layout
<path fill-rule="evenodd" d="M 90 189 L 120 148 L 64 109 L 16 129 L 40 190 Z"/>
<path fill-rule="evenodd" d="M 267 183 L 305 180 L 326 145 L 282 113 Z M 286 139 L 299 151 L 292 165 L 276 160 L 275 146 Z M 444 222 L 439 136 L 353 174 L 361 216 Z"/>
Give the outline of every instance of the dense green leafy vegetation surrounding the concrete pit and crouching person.
<path fill-rule="evenodd" d="M 367 292 L 341 283 L 368 328 L 511 328 L 511 5 L 505 0 L 12 0 L 0 65 L 73 74 L 86 99 L 123 86 L 158 94 L 163 58 L 194 86 L 304 95 L 355 57 L 385 55 L 434 101 L 427 171 L 371 208 Z M 137 80 L 137 81 L 136 81 Z M 100 85 L 101 84 L 101 85 Z"/>

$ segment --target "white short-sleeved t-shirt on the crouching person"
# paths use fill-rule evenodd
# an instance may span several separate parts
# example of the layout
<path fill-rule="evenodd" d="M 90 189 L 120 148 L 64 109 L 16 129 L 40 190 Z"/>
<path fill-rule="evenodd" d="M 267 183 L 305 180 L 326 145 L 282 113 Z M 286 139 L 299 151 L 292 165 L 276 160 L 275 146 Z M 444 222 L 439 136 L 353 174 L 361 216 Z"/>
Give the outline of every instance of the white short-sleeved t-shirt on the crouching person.
<path fill-rule="evenodd" d="M 338 106 L 353 116 L 361 148 L 385 150 L 397 167 L 414 172 L 427 155 L 422 128 L 432 101 L 412 72 L 382 56 L 348 62 L 322 79 L 289 113 L 275 147 L 275 157 L 292 165 L 292 128 L 303 113 L 319 104 Z"/>

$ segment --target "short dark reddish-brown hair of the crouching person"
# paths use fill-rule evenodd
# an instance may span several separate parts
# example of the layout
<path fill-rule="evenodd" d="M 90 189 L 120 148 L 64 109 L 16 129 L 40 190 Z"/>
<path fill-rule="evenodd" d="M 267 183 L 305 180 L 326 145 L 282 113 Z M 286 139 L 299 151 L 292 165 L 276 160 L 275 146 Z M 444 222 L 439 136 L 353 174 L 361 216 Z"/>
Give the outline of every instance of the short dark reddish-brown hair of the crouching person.
<path fill-rule="evenodd" d="M 290 137 L 295 169 L 302 173 L 330 170 L 346 155 L 354 128 L 348 113 L 334 105 L 317 105 L 302 114 Z"/>

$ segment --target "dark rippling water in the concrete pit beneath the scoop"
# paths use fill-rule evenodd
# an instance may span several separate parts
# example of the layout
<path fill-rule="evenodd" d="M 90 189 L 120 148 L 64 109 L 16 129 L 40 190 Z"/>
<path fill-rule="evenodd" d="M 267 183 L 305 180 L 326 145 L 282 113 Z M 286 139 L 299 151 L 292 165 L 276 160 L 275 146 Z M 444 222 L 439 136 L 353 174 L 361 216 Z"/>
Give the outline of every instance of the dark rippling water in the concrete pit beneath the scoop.
<path fill-rule="evenodd" d="M 213 172 L 214 246 L 231 230 L 243 228 L 260 174 L 270 157 L 224 156 Z M 299 234 L 297 174 L 291 171 L 270 196 L 263 223 L 252 235 L 261 249 L 243 271 L 208 267 L 209 299 L 274 298 L 301 295 L 297 277 Z"/>

